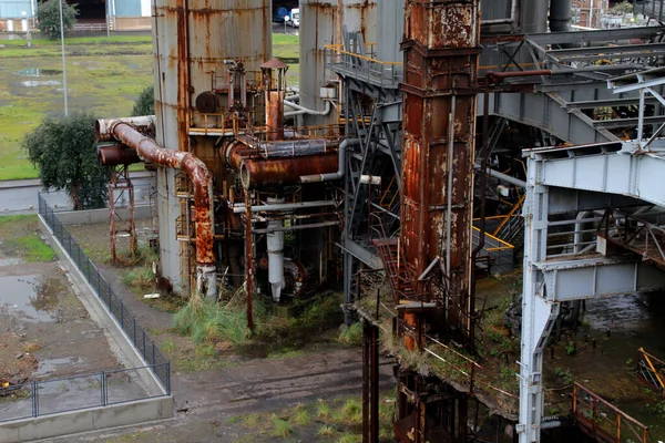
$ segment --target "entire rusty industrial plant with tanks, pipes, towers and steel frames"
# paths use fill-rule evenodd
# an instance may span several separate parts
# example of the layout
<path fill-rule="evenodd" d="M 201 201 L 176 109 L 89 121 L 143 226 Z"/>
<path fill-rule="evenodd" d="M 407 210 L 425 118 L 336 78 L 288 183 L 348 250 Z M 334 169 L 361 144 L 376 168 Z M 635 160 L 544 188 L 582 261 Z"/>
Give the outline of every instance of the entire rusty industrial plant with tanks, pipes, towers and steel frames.
<path fill-rule="evenodd" d="M 298 318 L 344 293 L 364 443 L 385 440 L 387 377 L 400 443 L 646 443 L 618 393 L 557 356 L 605 356 L 587 303 L 665 287 L 665 29 L 641 21 L 656 2 L 601 30 L 572 0 L 300 0 L 289 66 L 268 0 L 157 1 L 155 115 L 96 127 L 113 257 L 116 233 L 135 245 L 127 166 L 145 162 L 177 296 L 233 293 L 260 333 L 258 303 Z M 665 391 L 635 348 L 640 382 Z"/>

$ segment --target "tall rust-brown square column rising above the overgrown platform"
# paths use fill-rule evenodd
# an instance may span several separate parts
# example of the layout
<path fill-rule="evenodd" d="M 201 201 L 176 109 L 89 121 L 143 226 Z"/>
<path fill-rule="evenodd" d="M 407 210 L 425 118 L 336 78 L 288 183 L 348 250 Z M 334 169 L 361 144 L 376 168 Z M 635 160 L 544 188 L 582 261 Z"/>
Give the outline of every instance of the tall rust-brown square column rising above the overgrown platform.
<path fill-rule="evenodd" d="M 444 299 L 437 301 L 447 308 L 448 329 L 471 343 L 479 3 L 407 0 L 401 45 L 403 260 L 411 279 L 421 276 L 432 260 L 444 261 L 447 290 Z"/>

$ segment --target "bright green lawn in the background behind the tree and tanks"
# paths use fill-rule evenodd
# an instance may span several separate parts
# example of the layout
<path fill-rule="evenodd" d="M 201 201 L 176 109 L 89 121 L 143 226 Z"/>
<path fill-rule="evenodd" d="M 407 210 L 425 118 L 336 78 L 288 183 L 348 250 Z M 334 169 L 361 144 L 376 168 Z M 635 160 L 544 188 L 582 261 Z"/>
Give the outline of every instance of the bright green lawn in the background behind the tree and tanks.
<path fill-rule="evenodd" d="M 34 39 L 27 48 L 24 40 L 6 40 L 2 45 L 0 181 L 34 178 L 38 171 L 27 161 L 21 140 L 45 115 L 63 111 L 60 41 Z M 297 60 L 297 35 L 274 34 L 273 45 L 275 56 Z M 105 119 L 125 116 L 153 82 L 150 35 L 68 38 L 65 54 L 70 110 L 89 110 Z M 291 64 L 287 79 L 289 85 L 297 84 L 297 64 Z"/>

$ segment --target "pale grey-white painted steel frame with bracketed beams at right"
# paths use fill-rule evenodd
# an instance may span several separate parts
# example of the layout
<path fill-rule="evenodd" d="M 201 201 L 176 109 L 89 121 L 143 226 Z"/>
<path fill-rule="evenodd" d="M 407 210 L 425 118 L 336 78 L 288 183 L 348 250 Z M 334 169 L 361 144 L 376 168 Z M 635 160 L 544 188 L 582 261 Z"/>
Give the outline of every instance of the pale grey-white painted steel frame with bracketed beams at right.
<path fill-rule="evenodd" d="M 644 104 L 646 93 L 661 101 L 652 87 L 665 83 L 665 70 L 621 76 L 608 82 L 616 93 L 640 91 Z M 665 103 L 665 100 L 663 101 Z M 640 113 L 638 138 L 572 147 L 524 151 L 528 158 L 526 200 L 524 203 L 524 269 L 522 297 L 522 343 L 520 359 L 520 442 L 539 442 L 542 422 L 542 351 L 563 301 L 593 297 L 618 296 L 665 288 L 665 274 L 643 262 L 640 256 L 606 256 L 603 238 L 596 245 L 582 245 L 577 235 L 584 218 L 582 210 L 616 207 L 625 204 L 665 207 L 665 140 L 656 138 L 657 130 L 645 140 L 644 112 Z M 585 198 L 581 198 L 584 195 Z M 585 199 L 586 204 L 580 203 Z M 593 203 L 595 202 L 595 204 Z M 552 205 L 550 205 L 552 203 Z M 582 207 L 585 206 L 585 207 Z M 594 208 L 595 206 L 595 208 Z M 618 206 L 618 205 L 617 205 Z M 583 214 L 571 222 L 551 222 L 552 214 Z M 564 223 L 574 224 L 574 245 L 551 246 L 548 229 Z M 593 231 L 593 229 L 591 229 Z M 580 245 L 577 245 L 580 243 Z M 573 254 L 567 254 L 572 246 Z M 556 254 L 552 249 L 556 248 Z M 575 254 L 576 253 L 576 254 Z M 603 254 L 601 254 L 603 253 Z"/>

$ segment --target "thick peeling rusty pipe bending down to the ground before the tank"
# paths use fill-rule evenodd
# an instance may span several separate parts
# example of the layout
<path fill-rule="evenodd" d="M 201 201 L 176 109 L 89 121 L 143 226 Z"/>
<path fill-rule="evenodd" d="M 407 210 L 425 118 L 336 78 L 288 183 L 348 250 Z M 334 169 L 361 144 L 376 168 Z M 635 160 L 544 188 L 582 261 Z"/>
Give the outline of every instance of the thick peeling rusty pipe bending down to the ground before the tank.
<path fill-rule="evenodd" d="M 153 138 L 141 134 L 131 124 L 115 121 L 104 125 L 98 121 L 98 138 L 102 138 L 101 128 L 113 137 L 136 150 L 149 162 L 173 169 L 184 171 L 194 184 L 194 207 L 196 220 L 196 289 L 206 297 L 216 297 L 217 281 L 215 254 L 213 251 L 213 181 L 205 164 L 190 153 L 166 150 Z"/>

